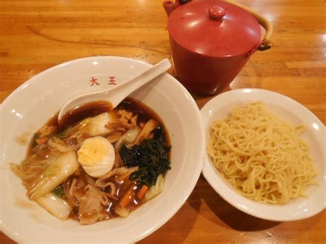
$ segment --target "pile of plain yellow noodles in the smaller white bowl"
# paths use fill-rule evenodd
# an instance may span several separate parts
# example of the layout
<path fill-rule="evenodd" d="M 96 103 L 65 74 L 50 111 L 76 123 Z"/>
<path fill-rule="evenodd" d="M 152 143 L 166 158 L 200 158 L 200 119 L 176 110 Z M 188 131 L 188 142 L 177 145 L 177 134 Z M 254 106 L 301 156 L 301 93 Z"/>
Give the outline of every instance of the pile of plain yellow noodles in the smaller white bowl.
<path fill-rule="evenodd" d="M 295 126 L 252 102 L 210 126 L 207 150 L 221 176 L 241 195 L 263 203 L 306 197 L 316 167 Z"/>

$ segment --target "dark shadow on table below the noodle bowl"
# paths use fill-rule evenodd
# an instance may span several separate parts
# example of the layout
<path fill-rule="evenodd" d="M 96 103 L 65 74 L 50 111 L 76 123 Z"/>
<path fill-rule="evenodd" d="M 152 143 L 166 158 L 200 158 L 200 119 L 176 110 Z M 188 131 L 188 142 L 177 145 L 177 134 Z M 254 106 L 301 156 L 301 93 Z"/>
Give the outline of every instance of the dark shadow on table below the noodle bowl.
<path fill-rule="evenodd" d="M 198 199 L 202 200 L 198 201 Z M 199 212 L 202 201 L 207 204 L 208 208 L 215 213 L 215 216 L 220 221 L 215 216 L 212 216 L 210 211 Z M 281 223 L 252 217 L 249 214 L 237 210 L 237 208 L 231 206 L 230 203 L 222 199 L 217 192 L 215 192 L 215 190 L 208 184 L 206 179 L 204 179 L 203 175 L 199 177 L 199 181 L 197 182 L 197 185 L 187 202 L 192 208 L 194 208 L 197 212 L 199 212 L 199 214 L 209 221 L 217 224 L 225 223 L 229 228 L 239 231 L 265 230 Z"/>

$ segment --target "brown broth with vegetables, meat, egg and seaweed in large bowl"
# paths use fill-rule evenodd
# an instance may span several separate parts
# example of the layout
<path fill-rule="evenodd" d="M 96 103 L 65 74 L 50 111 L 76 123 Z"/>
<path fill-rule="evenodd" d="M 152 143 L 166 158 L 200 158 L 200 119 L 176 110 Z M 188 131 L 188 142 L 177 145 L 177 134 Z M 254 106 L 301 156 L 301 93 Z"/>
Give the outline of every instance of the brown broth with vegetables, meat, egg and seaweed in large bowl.
<path fill-rule="evenodd" d="M 60 126 L 54 116 L 11 168 L 30 199 L 58 219 L 89 225 L 127 217 L 162 192 L 170 148 L 164 123 L 141 102 L 126 98 L 114 110 L 94 102 Z"/>

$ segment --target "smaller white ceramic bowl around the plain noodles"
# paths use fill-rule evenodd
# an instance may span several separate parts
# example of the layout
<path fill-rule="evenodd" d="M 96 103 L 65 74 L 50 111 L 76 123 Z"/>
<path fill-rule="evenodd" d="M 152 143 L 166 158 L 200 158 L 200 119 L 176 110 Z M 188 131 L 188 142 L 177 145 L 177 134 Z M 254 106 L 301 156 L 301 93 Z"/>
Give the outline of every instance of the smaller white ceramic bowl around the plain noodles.
<path fill-rule="evenodd" d="M 325 208 L 325 126 L 314 114 L 298 102 L 279 93 L 262 89 L 237 89 L 228 91 L 210 100 L 201 110 L 204 120 L 206 144 L 209 140 L 209 127 L 218 119 L 226 118 L 228 113 L 237 106 L 253 101 L 262 101 L 270 111 L 283 120 L 294 124 L 304 123 L 307 130 L 302 138 L 312 149 L 312 158 L 318 169 L 316 181 L 319 186 L 307 188 L 307 198 L 299 197 L 283 205 L 271 205 L 252 201 L 235 191 L 219 175 L 205 153 L 202 173 L 210 186 L 228 203 L 239 210 L 261 219 L 272 221 L 294 221 L 305 219 L 317 214 Z"/>

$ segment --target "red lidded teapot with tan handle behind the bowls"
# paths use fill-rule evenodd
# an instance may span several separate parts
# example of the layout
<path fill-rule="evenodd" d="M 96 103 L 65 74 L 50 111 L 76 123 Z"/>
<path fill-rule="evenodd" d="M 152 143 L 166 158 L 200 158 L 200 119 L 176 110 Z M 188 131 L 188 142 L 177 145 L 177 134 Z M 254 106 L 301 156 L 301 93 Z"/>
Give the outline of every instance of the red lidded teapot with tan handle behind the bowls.
<path fill-rule="evenodd" d="M 239 3 L 176 0 L 163 6 L 176 76 L 193 93 L 219 93 L 254 52 L 271 46 L 270 21 Z"/>

